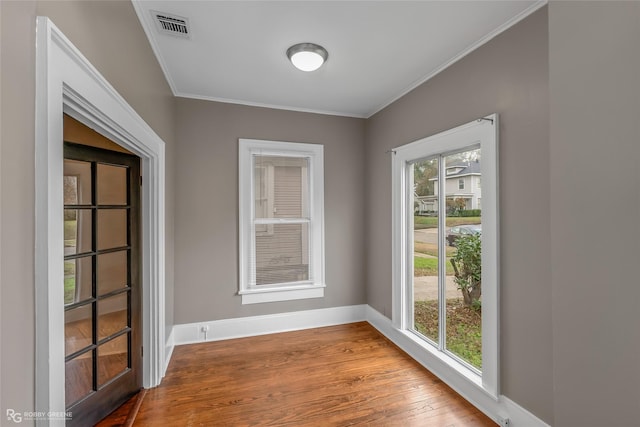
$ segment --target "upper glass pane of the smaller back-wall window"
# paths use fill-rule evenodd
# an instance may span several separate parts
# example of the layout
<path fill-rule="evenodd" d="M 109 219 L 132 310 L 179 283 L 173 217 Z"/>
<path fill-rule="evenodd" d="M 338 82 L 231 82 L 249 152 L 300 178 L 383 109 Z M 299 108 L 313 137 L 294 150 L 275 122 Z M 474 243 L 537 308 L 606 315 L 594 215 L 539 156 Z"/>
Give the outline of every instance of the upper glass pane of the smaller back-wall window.
<path fill-rule="evenodd" d="M 308 164 L 306 158 L 255 156 L 256 218 L 309 216 Z"/>

